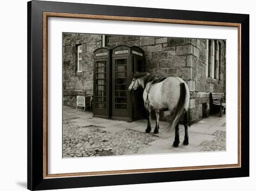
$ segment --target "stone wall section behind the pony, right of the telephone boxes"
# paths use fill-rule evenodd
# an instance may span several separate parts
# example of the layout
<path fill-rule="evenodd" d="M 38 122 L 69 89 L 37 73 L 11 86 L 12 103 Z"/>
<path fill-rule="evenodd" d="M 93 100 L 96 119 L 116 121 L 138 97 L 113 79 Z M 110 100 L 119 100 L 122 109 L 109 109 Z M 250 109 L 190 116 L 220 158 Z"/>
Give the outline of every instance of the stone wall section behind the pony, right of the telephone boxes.
<path fill-rule="evenodd" d="M 209 93 L 225 92 L 225 42 L 221 44 L 221 67 L 219 79 L 207 76 L 208 40 L 195 38 L 137 37 L 137 36 L 107 36 L 107 45 L 116 46 L 132 44 L 140 46 L 145 51 L 146 70 L 159 77 L 181 77 L 189 86 L 190 104 L 189 121 L 194 123 L 202 119 L 202 103 L 207 104 L 209 115 Z M 212 41 L 214 44 L 214 41 Z M 216 45 L 217 47 L 218 45 Z M 215 63 L 218 63 L 218 50 Z M 216 67 L 217 69 L 217 67 Z M 167 121 L 168 111 L 162 112 L 161 119 Z"/>

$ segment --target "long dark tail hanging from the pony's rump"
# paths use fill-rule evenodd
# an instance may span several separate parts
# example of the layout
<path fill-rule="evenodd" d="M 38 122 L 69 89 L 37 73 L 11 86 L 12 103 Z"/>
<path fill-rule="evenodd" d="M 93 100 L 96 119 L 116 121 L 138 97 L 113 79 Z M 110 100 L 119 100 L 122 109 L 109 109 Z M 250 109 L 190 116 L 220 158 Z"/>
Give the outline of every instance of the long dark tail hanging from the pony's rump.
<path fill-rule="evenodd" d="M 180 117 L 184 111 L 185 104 L 186 104 L 187 89 L 185 87 L 185 83 L 184 82 L 180 83 L 180 86 L 181 86 L 180 99 L 179 99 L 179 103 L 178 103 L 176 112 L 173 115 L 171 115 L 169 125 L 168 125 L 168 127 L 166 127 L 166 131 L 169 133 L 172 133 L 174 131 L 175 126 L 179 122 Z"/>

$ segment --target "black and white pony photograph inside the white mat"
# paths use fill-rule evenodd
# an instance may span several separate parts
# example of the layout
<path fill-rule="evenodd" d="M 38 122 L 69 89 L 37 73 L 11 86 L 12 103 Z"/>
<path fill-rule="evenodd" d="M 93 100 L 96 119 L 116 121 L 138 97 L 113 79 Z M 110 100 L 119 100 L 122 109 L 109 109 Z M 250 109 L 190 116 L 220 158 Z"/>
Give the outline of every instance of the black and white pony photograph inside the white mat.
<path fill-rule="evenodd" d="M 226 151 L 226 40 L 62 33 L 63 158 Z"/>

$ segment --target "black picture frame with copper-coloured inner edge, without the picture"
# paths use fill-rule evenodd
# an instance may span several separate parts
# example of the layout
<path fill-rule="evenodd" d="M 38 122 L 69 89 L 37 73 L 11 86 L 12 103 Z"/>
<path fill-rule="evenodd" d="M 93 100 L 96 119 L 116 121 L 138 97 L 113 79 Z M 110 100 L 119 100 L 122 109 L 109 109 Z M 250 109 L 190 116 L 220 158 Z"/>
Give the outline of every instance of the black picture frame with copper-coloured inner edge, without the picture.
<path fill-rule="evenodd" d="M 249 15 L 47 1 L 27 4 L 27 188 L 47 190 L 249 176 Z M 106 19 L 238 28 L 238 164 L 47 173 L 47 18 Z M 234 103 L 235 104 L 235 103 Z"/>

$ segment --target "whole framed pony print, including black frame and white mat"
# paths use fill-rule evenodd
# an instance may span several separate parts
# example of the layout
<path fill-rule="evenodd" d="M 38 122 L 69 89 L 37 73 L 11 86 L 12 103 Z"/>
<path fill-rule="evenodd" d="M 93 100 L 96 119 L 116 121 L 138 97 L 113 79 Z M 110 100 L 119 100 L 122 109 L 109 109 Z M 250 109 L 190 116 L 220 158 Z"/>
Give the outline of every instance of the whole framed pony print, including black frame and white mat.
<path fill-rule="evenodd" d="M 29 190 L 249 176 L 249 15 L 27 5 Z"/>

